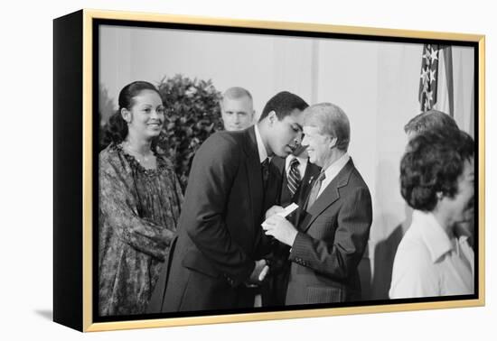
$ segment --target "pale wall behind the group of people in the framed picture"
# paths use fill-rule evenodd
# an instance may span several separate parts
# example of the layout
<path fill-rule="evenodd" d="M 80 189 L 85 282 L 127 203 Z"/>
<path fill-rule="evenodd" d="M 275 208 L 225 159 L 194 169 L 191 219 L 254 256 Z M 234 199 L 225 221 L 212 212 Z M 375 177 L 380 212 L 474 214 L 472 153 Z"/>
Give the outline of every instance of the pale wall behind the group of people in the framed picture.
<path fill-rule="evenodd" d="M 101 102 L 112 101 L 115 108 L 129 82 L 156 84 L 178 73 L 211 79 L 221 92 L 248 88 L 258 115 L 281 90 L 310 104 L 342 106 L 351 121 L 349 152 L 373 198 L 370 248 L 361 264 L 364 299 L 388 299 L 393 256 L 410 220 L 400 197 L 399 163 L 407 142 L 404 124 L 420 112 L 422 44 L 123 26 L 104 26 L 99 38 L 98 81 L 109 97 Z M 469 131 L 474 49 L 454 46 L 453 54 L 455 119 Z M 113 110 L 100 111 L 108 116 Z"/>

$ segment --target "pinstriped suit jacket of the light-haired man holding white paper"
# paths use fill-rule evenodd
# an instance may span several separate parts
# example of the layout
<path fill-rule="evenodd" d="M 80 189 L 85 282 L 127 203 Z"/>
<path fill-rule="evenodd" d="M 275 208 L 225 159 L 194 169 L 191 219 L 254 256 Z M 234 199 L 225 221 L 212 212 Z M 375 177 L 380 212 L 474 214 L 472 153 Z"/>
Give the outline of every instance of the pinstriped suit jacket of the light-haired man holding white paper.
<path fill-rule="evenodd" d="M 301 213 L 286 305 L 361 300 L 357 267 L 368 244 L 372 207 L 352 159 Z"/>

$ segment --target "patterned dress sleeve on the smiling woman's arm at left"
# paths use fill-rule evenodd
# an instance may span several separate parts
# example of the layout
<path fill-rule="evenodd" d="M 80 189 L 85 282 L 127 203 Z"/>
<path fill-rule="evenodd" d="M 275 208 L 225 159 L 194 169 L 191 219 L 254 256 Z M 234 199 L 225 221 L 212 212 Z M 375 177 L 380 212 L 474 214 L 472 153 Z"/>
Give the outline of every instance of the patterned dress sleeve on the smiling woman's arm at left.
<path fill-rule="evenodd" d="M 174 233 L 138 216 L 136 196 L 113 164 L 100 166 L 98 181 L 102 223 L 124 243 L 164 261 Z"/>

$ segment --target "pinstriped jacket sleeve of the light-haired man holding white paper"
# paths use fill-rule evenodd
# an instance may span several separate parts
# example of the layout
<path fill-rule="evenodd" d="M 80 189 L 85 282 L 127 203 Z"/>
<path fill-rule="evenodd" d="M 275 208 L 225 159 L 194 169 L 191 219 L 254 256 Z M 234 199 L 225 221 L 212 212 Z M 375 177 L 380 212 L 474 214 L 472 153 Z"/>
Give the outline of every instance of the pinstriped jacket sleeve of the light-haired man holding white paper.
<path fill-rule="evenodd" d="M 355 189 L 340 207 L 333 244 L 299 232 L 289 260 L 333 279 L 349 277 L 368 244 L 372 207 L 370 191 Z"/>

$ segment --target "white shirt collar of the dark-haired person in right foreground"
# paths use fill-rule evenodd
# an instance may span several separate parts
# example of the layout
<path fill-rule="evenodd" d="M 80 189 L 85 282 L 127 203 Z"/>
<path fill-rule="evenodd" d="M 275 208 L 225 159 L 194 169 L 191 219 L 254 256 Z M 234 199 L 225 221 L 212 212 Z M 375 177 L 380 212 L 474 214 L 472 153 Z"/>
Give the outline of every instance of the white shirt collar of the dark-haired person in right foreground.
<path fill-rule="evenodd" d="M 417 221 L 421 238 L 427 245 L 433 263 L 454 249 L 449 236 L 445 233 L 444 228 L 438 224 L 432 213 L 415 210 L 412 216 L 413 220 Z"/>

